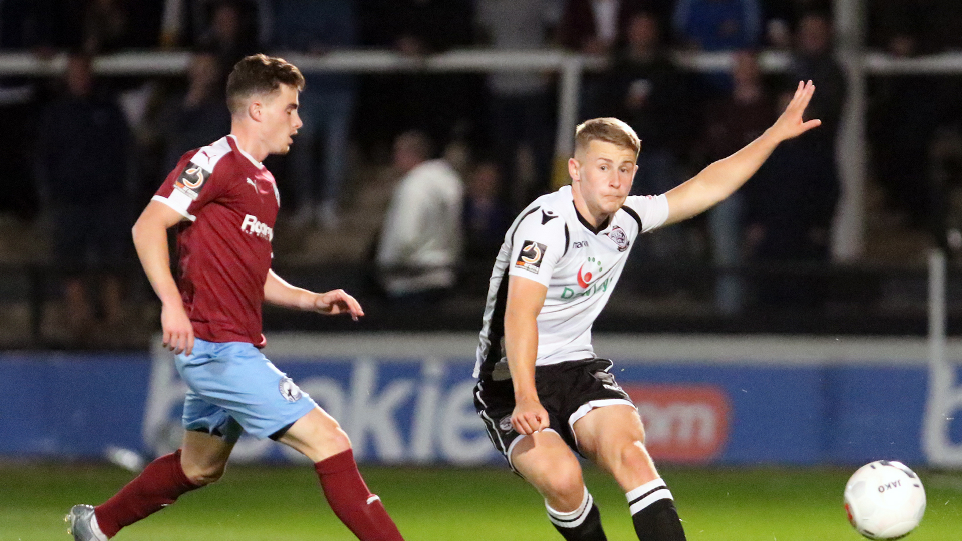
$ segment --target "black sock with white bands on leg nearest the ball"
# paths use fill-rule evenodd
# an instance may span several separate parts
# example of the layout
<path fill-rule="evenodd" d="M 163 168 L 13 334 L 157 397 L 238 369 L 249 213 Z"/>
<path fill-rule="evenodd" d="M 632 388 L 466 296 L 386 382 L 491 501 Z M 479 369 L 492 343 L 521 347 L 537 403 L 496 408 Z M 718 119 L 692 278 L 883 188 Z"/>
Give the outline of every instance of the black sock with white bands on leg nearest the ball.
<path fill-rule="evenodd" d="M 685 541 L 685 530 L 681 528 L 671 491 L 661 477 L 625 496 L 640 541 Z"/>

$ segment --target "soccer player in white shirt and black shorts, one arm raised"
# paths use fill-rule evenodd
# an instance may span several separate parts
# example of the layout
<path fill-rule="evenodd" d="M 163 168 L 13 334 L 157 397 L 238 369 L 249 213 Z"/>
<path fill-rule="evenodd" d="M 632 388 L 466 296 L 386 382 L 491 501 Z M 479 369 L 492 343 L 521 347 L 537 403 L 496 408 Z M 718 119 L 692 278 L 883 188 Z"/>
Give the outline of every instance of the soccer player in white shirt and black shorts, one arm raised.
<path fill-rule="evenodd" d="M 658 196 L 628 196 L 641 142 L 617 118 L 575 131 L 571 185 L 532 202 L 505 236 L 488 290 L 474 403 L 494 447 L 544 497 L 568 541 L 604 540 L 575 452 L 624 490 L 638 538 L 685 539 L 645 449 L 638 411 L 595 358 L 591 328 L 639 233 L 700 214 L 738 190 L 783 141 L 820 125 L 802 114 L 811 81 L 738 152 Z"/>

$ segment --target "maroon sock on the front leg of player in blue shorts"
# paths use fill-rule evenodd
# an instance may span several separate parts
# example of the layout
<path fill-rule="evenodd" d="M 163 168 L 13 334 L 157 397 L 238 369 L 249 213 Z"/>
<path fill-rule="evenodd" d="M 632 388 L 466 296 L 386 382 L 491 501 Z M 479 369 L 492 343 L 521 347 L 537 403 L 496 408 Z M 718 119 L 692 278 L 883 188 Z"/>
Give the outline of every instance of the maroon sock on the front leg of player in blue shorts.
<path fill-rule="evenodd" d="M 367 490 L 354 462 L 353 451 L 339 452 L 321 460 L 314 469 L 334 514 L 358 539 L 403 541 L 381 499 Z"/>

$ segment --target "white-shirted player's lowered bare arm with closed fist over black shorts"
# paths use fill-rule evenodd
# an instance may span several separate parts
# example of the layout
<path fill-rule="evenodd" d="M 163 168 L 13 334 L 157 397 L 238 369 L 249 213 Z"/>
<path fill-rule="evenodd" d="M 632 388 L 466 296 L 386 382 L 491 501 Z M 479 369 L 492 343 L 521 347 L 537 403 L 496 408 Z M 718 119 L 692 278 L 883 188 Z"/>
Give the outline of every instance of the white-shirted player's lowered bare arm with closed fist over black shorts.
<path fill-rule="evenodd" d="M 511 425 L 519 434 L 533 434 L 548 426 L 547 412 L 535 388 L 538 358 L 538 314 L 544 306 L 547 287 L 520 276 L 508 278 L 508 300 L 504 309 L 504 348 L 515 386 L 515 411 Z"/>

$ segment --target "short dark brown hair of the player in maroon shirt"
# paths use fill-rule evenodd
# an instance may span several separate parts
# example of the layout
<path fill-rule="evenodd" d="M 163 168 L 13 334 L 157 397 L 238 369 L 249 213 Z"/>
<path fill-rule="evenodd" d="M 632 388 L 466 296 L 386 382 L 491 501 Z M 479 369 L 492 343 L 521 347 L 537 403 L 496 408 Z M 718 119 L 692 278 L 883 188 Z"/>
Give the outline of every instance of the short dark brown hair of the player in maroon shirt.
<path fill-rule="evenodd" d="M 296 65 L 263 53 L 244 57 L 234 64 L 234 70 L 227 77 L 227 108 L 232 115 L 237 114 L 243 108 L 244 99 L 253 94 L 269 94 L 282 84 L 304 89 L 304 76 Z"/>

